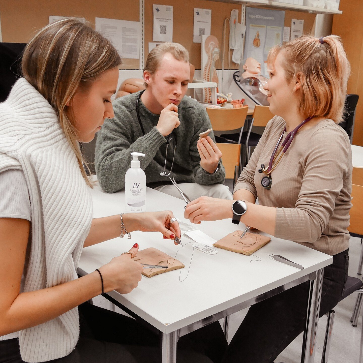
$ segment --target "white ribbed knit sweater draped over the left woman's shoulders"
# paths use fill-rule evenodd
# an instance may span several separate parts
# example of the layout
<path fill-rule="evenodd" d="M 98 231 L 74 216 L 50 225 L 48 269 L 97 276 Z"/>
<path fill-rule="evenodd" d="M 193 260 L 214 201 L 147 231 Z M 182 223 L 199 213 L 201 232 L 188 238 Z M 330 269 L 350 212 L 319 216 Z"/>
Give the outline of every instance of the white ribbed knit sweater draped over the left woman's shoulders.
<path fill-rule="evenodd" d="M 24 78 L 0 103 L 0 172 L 8 169 L 24 171 L 31 204 L 24 291 L 76 279 L 92 220 L 90 193 L 57 114 Z M 78 310 L 74 308 L 20 331 L 21 357 L 25 362 L 61 358 L 72 352 L 78 336 Z"/>

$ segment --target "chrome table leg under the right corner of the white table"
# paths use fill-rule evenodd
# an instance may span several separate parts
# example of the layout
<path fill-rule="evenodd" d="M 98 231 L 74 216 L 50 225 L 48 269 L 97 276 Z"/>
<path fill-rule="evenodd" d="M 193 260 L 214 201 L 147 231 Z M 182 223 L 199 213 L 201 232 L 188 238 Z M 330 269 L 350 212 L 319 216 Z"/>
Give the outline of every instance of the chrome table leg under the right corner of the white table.
<path fill-rule="evenodd" d="M 324 269 L 316 272 L 315 280 L 310 281 L 309 300 L 307 303 L 306 329 L 302 343 L 301 363 L 313 363 L 315 355 L 315 338 L 318 329 L 321 291 Z"/>

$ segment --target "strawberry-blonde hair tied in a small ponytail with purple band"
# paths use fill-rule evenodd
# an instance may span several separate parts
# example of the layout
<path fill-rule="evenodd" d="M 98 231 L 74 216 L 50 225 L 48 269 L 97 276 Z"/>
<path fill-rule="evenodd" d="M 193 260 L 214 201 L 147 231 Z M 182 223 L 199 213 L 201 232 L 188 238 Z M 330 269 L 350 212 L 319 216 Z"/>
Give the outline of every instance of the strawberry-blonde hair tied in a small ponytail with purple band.
<path fill-rule="evenodd" d="M 340 37 L 329 35 L 318 39 L 304 35 L 274 46 L 267 59 L 269 68 L 273 69 L 281 51 L 284 51 L 287 82 L 298 74 L 301 76 L 299 111 L 342 122 L 350 64 Z"/>

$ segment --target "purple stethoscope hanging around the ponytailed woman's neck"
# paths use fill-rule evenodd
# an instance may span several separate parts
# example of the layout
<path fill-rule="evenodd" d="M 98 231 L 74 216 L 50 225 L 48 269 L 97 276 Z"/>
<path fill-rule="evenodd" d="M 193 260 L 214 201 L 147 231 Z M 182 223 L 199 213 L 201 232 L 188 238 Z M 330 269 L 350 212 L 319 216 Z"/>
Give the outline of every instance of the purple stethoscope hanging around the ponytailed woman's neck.
<path fill-rule="evenodd" d="M 271 189 L 271 185 L 272 185 L 272 176 L 271 173 L 274 171 L 274 169 L 276 168 L 277 164 L 280 162 L 282 156 L 285 155 L 287 149 L 289 148 L 291 142 L 294 139 L 295 134 L 298 132 L 298 130 L 300 129 L 300 127 L 304 126 L 307 122 L 309 122 L 314 116 L 308 117 L 306 120 L 304 120 L 302 123 L 300 123 L 298 126 L 295 127 L 294 130 L 290 131 L 285 140 L 282 142 L 280 149 L 277 151 L 278 146 L 280 145 L 280 142 L 282 140 L 282 137 L 284 136 L 284 132 L 286 131 L 286 126 L 284 131 L 282 132 L 280 138 L 277 141 L 277 144 L 272 152 L 271 155 L 271 159 L 270 159 L 270 163 L 269 163 L 269 167 L 266 169 L 264 164 L 261 164 L 261 169 L 258 169 L 259 173 L 264 173 L 266 174 L 266 176 L 264 176 L 261 180 L 261 185 L 262 187 L 266 188 L 266 189 Z M 282 150 L 282 153 L 281 153 Z M 281 155 L 280 155 L 281 153 Z M 274 166 L 272 166 L 272 163 L 275 161 L 275 159 L 277 158 L 277 156 L 280 155 L 280 158 L 277 160 L 276 164 Z"/>

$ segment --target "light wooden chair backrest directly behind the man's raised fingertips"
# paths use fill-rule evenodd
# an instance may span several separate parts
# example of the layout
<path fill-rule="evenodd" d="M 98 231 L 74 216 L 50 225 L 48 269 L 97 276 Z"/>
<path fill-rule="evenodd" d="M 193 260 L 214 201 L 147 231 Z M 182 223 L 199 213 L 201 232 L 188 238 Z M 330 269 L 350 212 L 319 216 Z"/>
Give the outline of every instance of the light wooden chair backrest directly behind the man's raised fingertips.
<path fill-rule="evenodd" d="M 207 107 L 207 113 L 214 131 L 229 131 L 243 127 L 247 112 L 248 106 L 240 109 L 212 109 Z"/>

